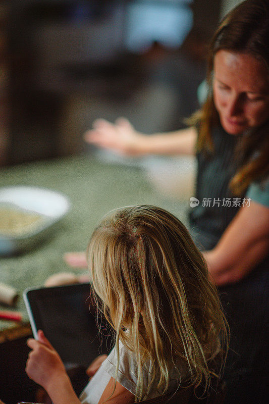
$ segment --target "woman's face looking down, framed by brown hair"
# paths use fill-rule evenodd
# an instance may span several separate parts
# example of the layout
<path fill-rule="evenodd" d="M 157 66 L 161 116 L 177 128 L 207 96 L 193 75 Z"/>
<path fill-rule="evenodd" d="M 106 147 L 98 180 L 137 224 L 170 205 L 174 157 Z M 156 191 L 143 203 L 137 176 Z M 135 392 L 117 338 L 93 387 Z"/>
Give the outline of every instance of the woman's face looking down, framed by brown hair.
<path fill-rule="evenodd" d="M 269 119 L 269 73 L 249 54 L 222 49 L 214 57 L 214 104 L 226 132 L 238 135 Z"/>

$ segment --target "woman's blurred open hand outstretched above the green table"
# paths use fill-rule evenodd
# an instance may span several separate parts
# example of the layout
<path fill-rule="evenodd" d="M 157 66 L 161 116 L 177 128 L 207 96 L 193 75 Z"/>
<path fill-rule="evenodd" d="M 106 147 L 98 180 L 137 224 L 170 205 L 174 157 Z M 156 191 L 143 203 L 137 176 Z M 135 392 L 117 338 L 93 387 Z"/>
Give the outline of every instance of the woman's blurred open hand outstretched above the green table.
<path fill-rule="evenodd" d="M 84 139 L 96 146 L 118 151 L 125 156 L 140 156 L 144 154 L 144 135 L 137 132 L 125 118 L 119 118 L 115 123 L 97 119 L 88 130 Z"/>

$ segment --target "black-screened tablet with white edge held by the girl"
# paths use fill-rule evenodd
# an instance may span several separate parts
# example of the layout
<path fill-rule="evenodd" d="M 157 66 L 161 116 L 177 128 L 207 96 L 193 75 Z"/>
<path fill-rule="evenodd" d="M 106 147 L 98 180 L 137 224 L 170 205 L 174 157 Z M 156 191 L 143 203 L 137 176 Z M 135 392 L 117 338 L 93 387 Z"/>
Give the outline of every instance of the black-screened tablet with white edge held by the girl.
<path fill-rule="evenodd" d="M 111 328 L 102 320 L 98 332 L 89 283 L 28 288 L 23 298 L 34 338 L 43 330 L 67 368 L 87 367 L 111 350 Z"/>

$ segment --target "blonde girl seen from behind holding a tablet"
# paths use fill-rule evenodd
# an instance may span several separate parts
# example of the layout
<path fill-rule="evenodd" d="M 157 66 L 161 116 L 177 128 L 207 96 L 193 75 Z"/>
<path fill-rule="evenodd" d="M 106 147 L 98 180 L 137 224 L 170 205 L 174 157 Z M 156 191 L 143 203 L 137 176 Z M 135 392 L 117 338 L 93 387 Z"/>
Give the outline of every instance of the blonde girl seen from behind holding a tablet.
<path fill-rule="evenodd" d="M 81 402 L 121 404 L 183 385 L 209 386 L 220 371 L 226 321 L 205 261 L 183 224 L 153 206 L 118 209 L 93 232 L 87 257 L 98 306 L 115 330 L 115 346 Z M 28 345 L 28 376 L 54 404 L 79 402 L 43 333 Z"/>

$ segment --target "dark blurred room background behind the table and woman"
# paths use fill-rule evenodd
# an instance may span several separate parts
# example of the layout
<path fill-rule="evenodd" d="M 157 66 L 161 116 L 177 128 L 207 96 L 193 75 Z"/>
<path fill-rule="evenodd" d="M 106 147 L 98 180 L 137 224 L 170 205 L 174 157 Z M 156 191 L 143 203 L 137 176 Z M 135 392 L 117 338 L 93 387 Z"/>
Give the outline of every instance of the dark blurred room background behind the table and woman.
<path fill-rule="evenodd" d="M 98 117 L 182 127 L 199 107 L 208 40 L 238 3 L 0 1 L 0 164 L 92 151 L 82 136 Z"/>

